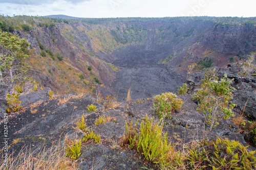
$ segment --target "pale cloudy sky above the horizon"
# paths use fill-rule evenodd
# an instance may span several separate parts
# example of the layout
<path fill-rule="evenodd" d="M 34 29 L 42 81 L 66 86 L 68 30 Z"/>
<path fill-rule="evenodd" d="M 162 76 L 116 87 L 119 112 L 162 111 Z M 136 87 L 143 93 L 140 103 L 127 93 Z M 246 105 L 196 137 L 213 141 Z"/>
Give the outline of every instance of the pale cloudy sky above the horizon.
<path fill-rule="evenodd" d="M 75 17 L 256 17 L 255 0 L 0 0 L 0 14 Z"/>

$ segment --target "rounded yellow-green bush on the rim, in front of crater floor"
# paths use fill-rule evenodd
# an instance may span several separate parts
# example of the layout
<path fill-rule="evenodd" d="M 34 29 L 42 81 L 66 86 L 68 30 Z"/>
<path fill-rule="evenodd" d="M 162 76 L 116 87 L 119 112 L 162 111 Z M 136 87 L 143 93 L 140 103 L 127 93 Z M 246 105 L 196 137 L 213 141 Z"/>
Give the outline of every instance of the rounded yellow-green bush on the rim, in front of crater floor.
<path fill-rule="evenodd" d="M 165 116 L 170 117 L 170 114 L 173 111 L 179 110 L 183 105 L 182 100 L 177 99 L 177 95 L 171 92 L 165 92 L 161 95 L 156 95 L 153 101 L 155 112 L 160 118 Z"/>

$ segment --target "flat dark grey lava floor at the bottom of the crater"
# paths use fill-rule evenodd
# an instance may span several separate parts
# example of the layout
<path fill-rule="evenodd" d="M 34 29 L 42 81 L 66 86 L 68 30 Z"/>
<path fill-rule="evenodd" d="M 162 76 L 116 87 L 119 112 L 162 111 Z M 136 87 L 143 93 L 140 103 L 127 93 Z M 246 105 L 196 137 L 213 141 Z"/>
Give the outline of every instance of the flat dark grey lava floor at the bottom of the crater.
<path fill-rule="evenodd" d="M 151 98 L 163 92 L 177 92 L 186 79 L 174 66 L 158 64 L 166 58 L 164 52 L 147 49 L 146 46 L 128 46 L 119 49 L 114 55 L 114 65 L 121 67 L 112 82 L 118 101 L 125 101 L 127 91 L 132 90 L 132 99 Z"/>

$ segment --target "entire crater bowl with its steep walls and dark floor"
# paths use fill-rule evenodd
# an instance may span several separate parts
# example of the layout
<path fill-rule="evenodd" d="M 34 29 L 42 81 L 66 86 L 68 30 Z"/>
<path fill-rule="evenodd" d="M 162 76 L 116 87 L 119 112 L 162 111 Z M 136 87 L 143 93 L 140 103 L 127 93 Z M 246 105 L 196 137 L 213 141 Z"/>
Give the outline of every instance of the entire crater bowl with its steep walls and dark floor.
<path fill-rule="evenodd" d="M 239 61 L 239 55 L 256 51 L 254 25 L 220 25 L 215 19 L 89 19 L 15 34 L 31 43 L 30 65 L 43 85 L 63 92 L 81 88 L 92 92 L 99 79 L 106 93 L 114 90 L 125 99 L 132 87 L 133 98 L 140 98 L 175 92 L 185 82 L 185 68 L 191 63 L 197 63 L 198 70 L 224 67 L 231 59 Z M 40 44 L 54 57 L 40 57 Z M 57 55 L 63 60 L 58 61 Z M 114 66 L 121 71 L 114 71 Z"/>

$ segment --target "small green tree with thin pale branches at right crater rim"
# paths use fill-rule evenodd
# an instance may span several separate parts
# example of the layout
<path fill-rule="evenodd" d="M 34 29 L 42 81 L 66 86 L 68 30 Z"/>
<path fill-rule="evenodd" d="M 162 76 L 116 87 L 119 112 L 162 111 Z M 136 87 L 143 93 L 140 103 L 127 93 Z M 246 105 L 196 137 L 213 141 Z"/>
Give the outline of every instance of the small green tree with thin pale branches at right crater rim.
<path fill-rule="evenodd" d="M 199 101 L 197 110 L 205 114 L 205 121 L 210 124 L 210 130 L 219 124 L 220 118 L 232 117 L 232 109 L 236 106 L 229 102 L 232 99 L 232 92 L 236 90 L 230 86 L 233 79 L 227 79 L 225 74 L 224 78 L 218 80 L 215 74 L 215 69 L 207 69 L 202 80 L 202 89 L 193 95 L 193 99 Z"/>

